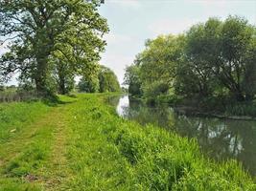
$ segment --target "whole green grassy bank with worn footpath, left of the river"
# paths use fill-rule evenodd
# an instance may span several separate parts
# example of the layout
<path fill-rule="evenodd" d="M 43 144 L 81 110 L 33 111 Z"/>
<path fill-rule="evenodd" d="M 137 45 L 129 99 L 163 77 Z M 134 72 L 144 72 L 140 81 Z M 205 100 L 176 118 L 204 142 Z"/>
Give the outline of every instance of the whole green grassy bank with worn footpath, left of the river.
<path fill-rule="evenodd" d="M 255 190 L 236 161 L 117 117 L 107 95 L 0 105 L 0 190 Z"/>

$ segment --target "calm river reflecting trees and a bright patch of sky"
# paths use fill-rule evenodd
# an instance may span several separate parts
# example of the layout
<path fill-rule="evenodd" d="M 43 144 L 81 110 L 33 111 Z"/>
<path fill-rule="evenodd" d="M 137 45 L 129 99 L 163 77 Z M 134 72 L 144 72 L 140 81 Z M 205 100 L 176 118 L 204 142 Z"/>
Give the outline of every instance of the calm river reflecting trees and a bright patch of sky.
<path fill-rule="evenodd" d="M 128 96 L 111 96 L 120 117 L 141 124 L 153 123 L 183 137 L 197 138 L 208 156 L 214 159 L 238 159 L 256 176 L 256 121 L 178 115 L 172 107 L 151 107 Z"/>

